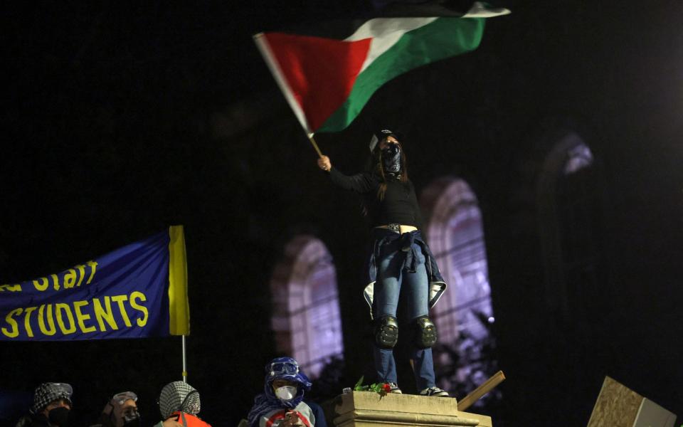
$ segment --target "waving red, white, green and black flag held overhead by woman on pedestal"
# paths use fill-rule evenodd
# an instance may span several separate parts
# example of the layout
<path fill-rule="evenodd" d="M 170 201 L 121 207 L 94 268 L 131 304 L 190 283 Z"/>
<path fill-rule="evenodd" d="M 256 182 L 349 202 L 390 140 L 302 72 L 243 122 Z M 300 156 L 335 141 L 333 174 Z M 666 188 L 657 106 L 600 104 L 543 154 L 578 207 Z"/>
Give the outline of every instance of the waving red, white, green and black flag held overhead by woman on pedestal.
<path fill-rule="evenodd" d="M 308 135 L 346 128 L 384 83 L 473 51 L 484 20 L 509 14 L 476 2 L 462 16 L 375 18 L 344 40 L 258 33 L 254 41 Z"/>

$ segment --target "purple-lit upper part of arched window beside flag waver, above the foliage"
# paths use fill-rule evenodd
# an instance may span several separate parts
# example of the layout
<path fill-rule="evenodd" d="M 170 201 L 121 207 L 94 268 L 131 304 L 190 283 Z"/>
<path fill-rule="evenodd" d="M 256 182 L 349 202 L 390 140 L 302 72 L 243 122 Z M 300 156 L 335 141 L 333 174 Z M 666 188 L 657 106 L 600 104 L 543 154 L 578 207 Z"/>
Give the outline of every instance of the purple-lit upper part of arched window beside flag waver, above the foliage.
<path fill-rule="evenodd" d="M 467 330 L 484 338 L 493 322 L 491 289 L 477 197 L 462 179 L 443 178 L 423 192 L 427 238 L 448 290 L 433 309 L 442 343 L 454 343 Z"/>

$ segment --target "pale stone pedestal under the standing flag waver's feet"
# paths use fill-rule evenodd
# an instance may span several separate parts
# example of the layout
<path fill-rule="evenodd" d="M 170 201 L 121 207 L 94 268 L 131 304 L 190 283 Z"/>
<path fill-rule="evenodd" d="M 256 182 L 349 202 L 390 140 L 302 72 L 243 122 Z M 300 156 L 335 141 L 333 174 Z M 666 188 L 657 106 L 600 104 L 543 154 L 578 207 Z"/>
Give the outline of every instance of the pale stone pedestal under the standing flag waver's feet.
<path fill-rule="evenodd" d="M 457 401 L 446 397 L 351 391 L 334 401 L 336 427 L 481 426 L 492 427 L 491 417 L 460 412 Z"/>

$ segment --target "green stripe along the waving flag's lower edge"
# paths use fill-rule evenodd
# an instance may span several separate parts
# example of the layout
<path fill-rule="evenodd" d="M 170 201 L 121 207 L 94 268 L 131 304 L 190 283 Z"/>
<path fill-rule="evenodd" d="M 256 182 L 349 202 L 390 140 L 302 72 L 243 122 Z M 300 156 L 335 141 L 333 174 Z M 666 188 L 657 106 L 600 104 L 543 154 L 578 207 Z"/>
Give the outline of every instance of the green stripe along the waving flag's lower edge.
<path fill-rule="evenodd" d="M 420 65 L 473 51 L 484 33 L 483 18 L 439 18 L 409 31 L 357 78 L 346 102 L 316 132 L 344 130 L 381 85 Z"/>

